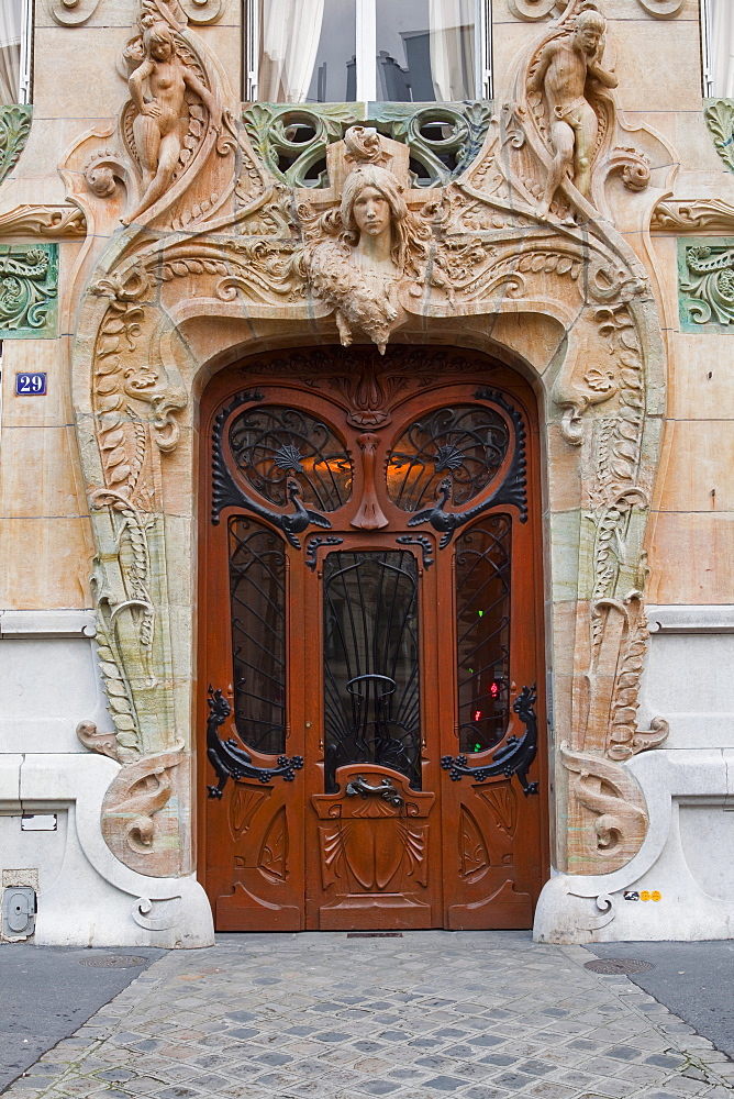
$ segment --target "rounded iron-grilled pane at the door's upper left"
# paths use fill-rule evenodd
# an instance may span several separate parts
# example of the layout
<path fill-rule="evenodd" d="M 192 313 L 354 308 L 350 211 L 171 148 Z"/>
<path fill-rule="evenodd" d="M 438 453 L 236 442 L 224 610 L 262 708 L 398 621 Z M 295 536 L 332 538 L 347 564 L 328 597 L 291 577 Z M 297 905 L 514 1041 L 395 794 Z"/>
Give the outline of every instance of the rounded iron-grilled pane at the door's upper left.
<path fill-rule="evenodd" d="M 344 444 L 308 412 L 262 404 L 230 426 L 232 457 L 252 487 L 276 507 L 288 502 L 294 477 L 307 507 L 336 511 L 352 492 L 352 462 Z"/>

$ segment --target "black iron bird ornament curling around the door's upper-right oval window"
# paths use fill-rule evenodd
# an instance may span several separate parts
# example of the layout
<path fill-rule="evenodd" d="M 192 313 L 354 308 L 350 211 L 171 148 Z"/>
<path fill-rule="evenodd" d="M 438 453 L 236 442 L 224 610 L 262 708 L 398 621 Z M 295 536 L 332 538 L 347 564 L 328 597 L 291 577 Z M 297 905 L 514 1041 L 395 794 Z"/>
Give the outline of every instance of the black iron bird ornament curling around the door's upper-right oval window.
<path fill-rule="evenodd" d="M 488 401 L 499 404 L 512 421 L 514 435 L 514 446 L 510 468 L 502 478 L 501 484 L 481 503 L 467 508 L 465 511 L 445 511 L 445 506 L 451 503 L 454 492 L 454 482 L 449 477 L 444 477 L 438 486 L 436 502 L 432 508 L 425 508 L 416 512 L 408 520 L 409 526 L 419 526 L 421 523 L 431 523 L 435 531 L 442 535 L 438 543 L 440 550 L 445 550 L 451 543 L 454 534 L 466 523 L 471 522 L 477 515 L 489 511 L 490 508 L 499 504 L 511 504 L 520 511 L 520 522 L 527 522 L 527 477 L 525 458 L 525 424 L 518 409 L 505 399 L 504 395 L 497 389 L 480 388 L 474 395 L 476 400 Z"/>

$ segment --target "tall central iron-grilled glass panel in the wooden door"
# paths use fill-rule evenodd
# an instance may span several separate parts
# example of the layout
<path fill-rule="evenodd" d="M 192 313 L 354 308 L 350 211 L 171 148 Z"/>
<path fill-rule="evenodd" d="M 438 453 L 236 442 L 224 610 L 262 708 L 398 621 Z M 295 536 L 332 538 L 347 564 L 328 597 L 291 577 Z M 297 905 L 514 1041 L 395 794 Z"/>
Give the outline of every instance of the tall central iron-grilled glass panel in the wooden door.
<path fill-rule="evenodd" d="M 408 551 L 324 560 L 325 788 L 336 768 L 372 763 L 421 788 L 418 565 Z"/>

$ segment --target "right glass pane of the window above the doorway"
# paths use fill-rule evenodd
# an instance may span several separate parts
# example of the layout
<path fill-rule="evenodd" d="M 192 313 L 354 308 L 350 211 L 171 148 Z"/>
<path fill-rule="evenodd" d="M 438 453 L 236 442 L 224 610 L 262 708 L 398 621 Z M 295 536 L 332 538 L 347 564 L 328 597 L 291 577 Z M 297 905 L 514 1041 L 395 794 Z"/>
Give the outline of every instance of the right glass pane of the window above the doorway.
<path fill-rule="evenodd" d="M 474 99 L 475 0 L 376 0 L 377 96 L 392 102 Z"/>

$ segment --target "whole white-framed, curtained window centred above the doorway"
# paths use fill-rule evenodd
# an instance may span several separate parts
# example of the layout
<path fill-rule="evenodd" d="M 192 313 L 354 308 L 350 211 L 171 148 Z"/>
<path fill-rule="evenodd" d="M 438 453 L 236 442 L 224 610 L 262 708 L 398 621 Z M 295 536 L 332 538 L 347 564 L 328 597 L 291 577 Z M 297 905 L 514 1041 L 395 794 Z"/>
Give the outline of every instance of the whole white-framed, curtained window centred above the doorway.
<path fill-rule="evenodd" d="M 489 99 L 489 0 L 247 0 L 245 99 Z"/>

